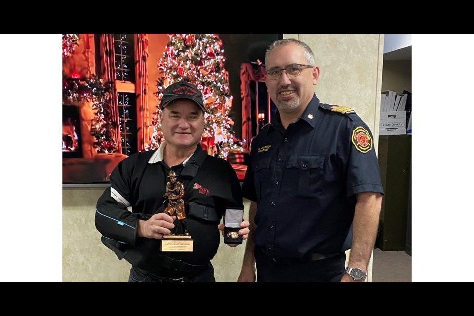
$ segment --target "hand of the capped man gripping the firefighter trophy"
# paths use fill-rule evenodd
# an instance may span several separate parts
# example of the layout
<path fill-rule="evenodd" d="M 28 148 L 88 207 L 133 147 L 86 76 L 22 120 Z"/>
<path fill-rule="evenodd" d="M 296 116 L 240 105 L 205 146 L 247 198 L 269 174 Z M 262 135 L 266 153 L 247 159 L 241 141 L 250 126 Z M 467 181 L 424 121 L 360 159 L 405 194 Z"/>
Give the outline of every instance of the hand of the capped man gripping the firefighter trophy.
<path fill-rule="evenodd" d="M 176 216 L 169 216 L 166 213 L 157 213 L 149 220 L 138 220 L 137 236 L 149 239 L 163 239 L 163 235 L 171 234 L 170 229 L 174 228 Z"/>

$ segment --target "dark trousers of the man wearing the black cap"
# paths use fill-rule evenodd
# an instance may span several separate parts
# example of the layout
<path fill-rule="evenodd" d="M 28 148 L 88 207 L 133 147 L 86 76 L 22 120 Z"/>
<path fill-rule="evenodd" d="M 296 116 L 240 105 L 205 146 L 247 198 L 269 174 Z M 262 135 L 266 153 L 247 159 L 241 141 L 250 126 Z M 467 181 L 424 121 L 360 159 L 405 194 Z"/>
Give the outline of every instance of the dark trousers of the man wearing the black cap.
<path fill-rule="evenodd" d="M 130 269 L 130 276 L 128 277 L 128 282 L 157 282 L 157 283 L 171 283 L 171 282 L 215 282 L 216 279 L 214 278 L 214 267 L 211 263 L 209 266 L 193 275 L 187 276 L 179 279 L 167 279 L 155 276 L 154 274 L 147 272 L 145 270 L 133 267 Z"/>

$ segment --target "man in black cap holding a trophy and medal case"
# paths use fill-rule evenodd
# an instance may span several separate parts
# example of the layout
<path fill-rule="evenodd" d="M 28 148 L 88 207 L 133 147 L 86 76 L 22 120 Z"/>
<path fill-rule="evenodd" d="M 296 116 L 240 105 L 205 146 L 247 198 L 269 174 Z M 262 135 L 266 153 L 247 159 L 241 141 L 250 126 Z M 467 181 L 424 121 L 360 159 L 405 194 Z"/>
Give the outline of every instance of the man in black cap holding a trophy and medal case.
<path fill-rule="evenodd" d="M 160 107 L 165 141 L 117 165 L 110 188 L 97 202 L 96 228 L 102 242 L 132 264 L 129 282 L 214 282 L 210 260 L 224 229 L 219 222 L 226 208 L 243 209 L 240 184 L 227 161 L 207 155 L 199 144 L 205 107 L 197 87 L 184 81 L 170 85 Z M 185 233 L 181 225 L 175 227 L 175 216 L 163 212 L 170 173 L 184 185 L 192 252 L 160 251 L 163 235 Z M 248 226 L 248 221 L 240 224 L 243 239 Z"/>

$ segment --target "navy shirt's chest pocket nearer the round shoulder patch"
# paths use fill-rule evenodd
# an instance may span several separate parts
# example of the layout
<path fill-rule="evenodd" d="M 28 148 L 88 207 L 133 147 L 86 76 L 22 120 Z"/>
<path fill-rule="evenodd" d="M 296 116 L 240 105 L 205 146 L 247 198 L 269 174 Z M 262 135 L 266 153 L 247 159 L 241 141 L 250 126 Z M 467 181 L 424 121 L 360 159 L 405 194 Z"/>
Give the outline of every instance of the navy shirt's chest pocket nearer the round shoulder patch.
<path fill-rule="evenodd" d="M 296 175 L 295 186 L 298 197 L 316 197 L 323 185 L 323 169 L 326 157 L 322 155 L 293 154 L 286 168 Z M 290 170 L 289 170 L 290 171 Z"/>

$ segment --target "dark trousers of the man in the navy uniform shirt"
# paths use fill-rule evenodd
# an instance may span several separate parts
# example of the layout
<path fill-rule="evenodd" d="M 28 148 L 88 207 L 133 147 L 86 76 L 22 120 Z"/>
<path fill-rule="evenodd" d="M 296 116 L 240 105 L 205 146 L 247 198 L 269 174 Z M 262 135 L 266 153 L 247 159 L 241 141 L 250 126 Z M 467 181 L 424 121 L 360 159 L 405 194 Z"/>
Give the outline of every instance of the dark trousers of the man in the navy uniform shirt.
<path fill-rule="evenodd" d="M 257 282 L 340 282 L 346 254 L 298 263 L 275 263 L 260 247 L 255 247 Z"/>

